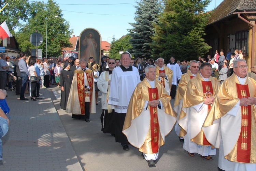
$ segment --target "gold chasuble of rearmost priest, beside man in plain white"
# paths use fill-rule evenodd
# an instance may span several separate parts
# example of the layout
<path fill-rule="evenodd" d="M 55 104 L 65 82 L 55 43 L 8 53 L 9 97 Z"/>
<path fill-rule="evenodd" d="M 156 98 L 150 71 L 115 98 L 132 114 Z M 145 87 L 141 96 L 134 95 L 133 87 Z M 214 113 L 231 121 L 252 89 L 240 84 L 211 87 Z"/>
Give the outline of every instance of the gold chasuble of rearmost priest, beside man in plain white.
<path fill-rule="evenodd" d="M 167 75 L 169 83 L 166 82 L 165 77 L 161 77 L 160 80 L 158 80 L 159 73 L 165 73 Z M 161 83 L 163 84 L 163 87 L 165 87 L 165 88 L 166 88 L 165 84 L 168 83 L 170 90 L 171 90 L 171 87 L 172 87 L 172 75 L 173 75 L 173 73 L 172 73 L 172 70 L 170 68 L 163 65 L 163 70 L 160 70 L 159 66 L 156 65 L 156 80 L 161 81 Z M 170 90 L 167 90 L 167 92 L 169 92 Z"/>

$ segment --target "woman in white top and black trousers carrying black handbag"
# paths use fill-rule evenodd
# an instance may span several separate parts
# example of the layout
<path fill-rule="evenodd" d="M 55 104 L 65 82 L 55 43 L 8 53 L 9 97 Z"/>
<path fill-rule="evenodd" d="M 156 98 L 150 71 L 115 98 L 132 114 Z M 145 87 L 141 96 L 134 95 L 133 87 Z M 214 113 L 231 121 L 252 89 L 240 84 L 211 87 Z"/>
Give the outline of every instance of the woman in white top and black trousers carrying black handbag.
<path fill-rule="evenodd" d="M 35 71 L 35 61 L 36 59 L 31 58 L 29 63 L 29 75 L 30 75 L 30 83 L 31 83 L 31 100 L 36 101 L 37 95 L 36 95 L 36 86 L 37 86 L 37 72 Z"/>

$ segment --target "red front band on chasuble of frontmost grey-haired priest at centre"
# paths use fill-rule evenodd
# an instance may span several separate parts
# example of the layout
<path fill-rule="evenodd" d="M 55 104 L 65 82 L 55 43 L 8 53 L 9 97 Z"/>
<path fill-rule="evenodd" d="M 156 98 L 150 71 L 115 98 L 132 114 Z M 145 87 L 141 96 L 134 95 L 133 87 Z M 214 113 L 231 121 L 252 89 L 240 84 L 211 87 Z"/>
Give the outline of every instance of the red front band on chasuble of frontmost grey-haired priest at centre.
<path fill-rule="evenodd" d="M 149 101 L 158 99 L 157 88 L 148 88 Z M 159 124 L 158 124 L 158 107 L 149 107 L 150 109 L 150 126 L 151 126 L 151 148 L 152 153 L 157 153 L 159 149 Z"/>

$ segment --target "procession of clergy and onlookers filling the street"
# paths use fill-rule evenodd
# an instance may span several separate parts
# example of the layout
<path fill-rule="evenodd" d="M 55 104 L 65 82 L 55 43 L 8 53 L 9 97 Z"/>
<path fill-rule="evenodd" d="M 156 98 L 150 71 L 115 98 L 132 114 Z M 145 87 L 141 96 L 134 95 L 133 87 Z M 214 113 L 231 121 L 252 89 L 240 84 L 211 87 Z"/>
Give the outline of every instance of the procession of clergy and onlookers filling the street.
<path fill-rule="evenodd" d="M 93 57 L 42 61 L 27 59 L 22 52 L 19 75 L 14 67 L 16 93 L 20 82 L 20 100 L 27 100 L 29 77 L 31 100 L 37 100 L 40 87 L 55 81 L 61 87 L 61 109 L 89 123 L 101 91 L 101 130 L 113 135 L 125 151 L 129 144 L 137 147 L 148 166 L 157 163 L 160 146 L 174 127 L 189 156 L 198 153 L 212 160 L 219 148 L 218 170 L 256 170 L 256 81 L 247 76 L 241 53 L 229 50 L 226 58 L 223 50 L 216 51 L 208 61 L 199 57 L 175 62 L 170 57 L 165 64 L 162 58 L 133 60 L 126 51 L 120 59 L 106 57 L 97 64 Z"/>

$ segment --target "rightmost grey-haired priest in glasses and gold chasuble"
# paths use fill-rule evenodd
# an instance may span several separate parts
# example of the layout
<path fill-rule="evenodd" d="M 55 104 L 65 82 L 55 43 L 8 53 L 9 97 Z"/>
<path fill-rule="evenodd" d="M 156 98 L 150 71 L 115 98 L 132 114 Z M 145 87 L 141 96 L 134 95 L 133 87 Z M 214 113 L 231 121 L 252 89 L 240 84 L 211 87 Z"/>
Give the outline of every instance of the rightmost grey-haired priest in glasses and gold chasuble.
<path fill-rule="evenodd" d="M 219 148 L 219 171 L 256 170 L 256 81 L 248 77 L 244 59 L 234 60 L 233 70 L 222 83 L 201 134 Z"/>

